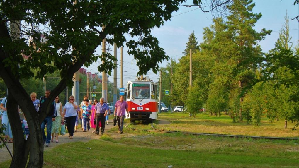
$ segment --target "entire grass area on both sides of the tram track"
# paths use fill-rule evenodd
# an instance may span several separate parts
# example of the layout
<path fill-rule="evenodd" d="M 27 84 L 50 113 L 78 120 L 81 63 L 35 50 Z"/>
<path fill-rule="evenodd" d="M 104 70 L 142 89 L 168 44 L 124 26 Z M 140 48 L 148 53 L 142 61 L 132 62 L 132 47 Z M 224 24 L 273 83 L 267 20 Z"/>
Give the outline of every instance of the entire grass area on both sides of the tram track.
<path fill-rule="evenodd" d="M 233 123 L 226 115 L 207 114 L 189 117 L 187 113 L 161 113 L 158 119 L 170 121 L 154 127 L 190 132 L 227 133 L 239 135 L 274 135 L 298 137 L 291 124 L 283 129 L 283 121 L 261 126 Z M 129 120 L 125 120 L 125 125 Z M 132 130 L 129 128 L 137 128 Z M 61 144 L 44 152 L 43 167 L 298 167 L 299 141 L 225 138 L 183 135 L 181 133 L 152 133 L 150 124 L 129 124 L 124 134 L 109 136 L 117 127 L 107 131 L 100 140 Z M 87 149 L 90 147 L 91 149 Z M 10 161 L 0 164 L 9 167 Z"/>

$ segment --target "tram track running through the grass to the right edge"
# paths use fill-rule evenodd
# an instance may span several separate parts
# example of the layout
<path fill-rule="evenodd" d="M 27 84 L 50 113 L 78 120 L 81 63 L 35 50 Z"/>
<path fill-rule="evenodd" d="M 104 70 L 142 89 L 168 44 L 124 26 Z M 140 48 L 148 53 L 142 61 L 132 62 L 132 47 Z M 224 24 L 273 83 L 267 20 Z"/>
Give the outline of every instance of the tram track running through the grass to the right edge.
<path fill-rule="evenodd" d="M 131 123 L 129 123 L 131 124 Z M 127 124 L 125 127 L 128 128 Z M 218 136 L 218 137 L 230 137 L 230 138 L 252 138 L 252 139 L 271 139 L 271 140 L 299 140 L 299 138 L 291 138 L 291 137 L 268 137 L 268 136 L 254 136 L 254 135 L 228 135 L 228 134 L 213 134 L 213 133 L 196 133 L 196 132 L 185 132 L 185 131 L 170 131 L 170 130 L 159 130 L 155 129 L 153 127 L 153 124 L 151 123 L 151 127 L 154 130 L 140 130 L 136 128 L 128 128 L 130 130 L 135 131 L 147 131 L 147 132 L 164 132 L 164 133 L 181 133 L 185 135 L 207 135 L 207 136 Z"/>

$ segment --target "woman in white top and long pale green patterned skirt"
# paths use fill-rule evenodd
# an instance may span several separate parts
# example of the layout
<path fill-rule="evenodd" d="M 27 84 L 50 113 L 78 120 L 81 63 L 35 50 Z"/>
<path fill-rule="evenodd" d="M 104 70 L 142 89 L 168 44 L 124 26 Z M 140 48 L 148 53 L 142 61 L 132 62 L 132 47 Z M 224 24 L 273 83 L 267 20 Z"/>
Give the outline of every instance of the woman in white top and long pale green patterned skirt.
<path fill-rule="evenodd" d="M 54 141 L 54 134 L 55 134 L 56 143 L 58 143 L 58 134 L 59 134 L 60 126 L 61 126 L 61 120 L 63 121 L 63 118 L 61 118 L 62 104 L 59 102 L 58 96 L 55 98 L 54 107 L 55 107 L 56 117 L 55 117 L 55 121 L 52 121 L 52 128 L 51 128 L 52 140 L 51 140 L 51 142 Z"/>

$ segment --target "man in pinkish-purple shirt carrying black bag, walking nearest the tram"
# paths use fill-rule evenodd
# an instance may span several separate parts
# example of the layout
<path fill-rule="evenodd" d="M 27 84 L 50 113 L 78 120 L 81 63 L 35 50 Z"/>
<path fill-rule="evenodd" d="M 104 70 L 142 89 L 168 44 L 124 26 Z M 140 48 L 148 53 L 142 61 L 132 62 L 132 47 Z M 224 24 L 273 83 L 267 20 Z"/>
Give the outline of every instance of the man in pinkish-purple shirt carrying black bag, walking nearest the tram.
<path fill-rule="evenodd" d="M 123 96 L 120 96 L 120 100 L 115 103 L 114 117 L 117 115 L 118 133 L 123 133 L 123 120 L 125 119 L 127 111 L 127 117 L 129 117 L 128 104 L 123 101 Z"/>

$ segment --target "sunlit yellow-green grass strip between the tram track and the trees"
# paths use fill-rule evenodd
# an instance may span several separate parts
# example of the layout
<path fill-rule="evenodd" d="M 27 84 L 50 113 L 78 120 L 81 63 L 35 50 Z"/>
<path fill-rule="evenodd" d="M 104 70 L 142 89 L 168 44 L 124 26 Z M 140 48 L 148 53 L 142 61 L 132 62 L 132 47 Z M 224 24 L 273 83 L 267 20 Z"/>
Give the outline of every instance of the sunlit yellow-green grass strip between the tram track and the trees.
<path fill-rule="evenodd" d="M 289 122 L 284 129 L 284 121 L 269 123 L 268 118 L 262 117 L 260 126 L 247 124 L 247 121 L 233 123 L 228 115 L 211 116 L 207 113 L 189 117 L 189 113 L 173 112 L 159 113 L 158 120 L 168 120 L 171 124 L 156 125 L 157 129 L 177 130 L 187 132 L 205 132 L 230 135 L 258 135 L 271 137 L 299 137 L 299 129 L 293 131 L 294 123 Z"/>

